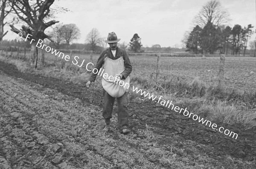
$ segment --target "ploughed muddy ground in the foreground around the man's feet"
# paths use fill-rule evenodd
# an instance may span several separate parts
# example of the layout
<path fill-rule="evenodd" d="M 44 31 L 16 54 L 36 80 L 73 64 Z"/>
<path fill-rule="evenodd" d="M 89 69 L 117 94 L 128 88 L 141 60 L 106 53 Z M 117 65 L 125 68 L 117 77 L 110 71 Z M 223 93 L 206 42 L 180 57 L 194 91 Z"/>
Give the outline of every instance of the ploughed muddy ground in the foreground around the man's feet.
<path fill-rule="evenodd" d="M 153 102 L 102 131 L 102 92 L 0 61 L 0 169 L 255 169 L 256 127 L 234 139 Z M 114 112 L 116 112 L 116 108 Z"/>

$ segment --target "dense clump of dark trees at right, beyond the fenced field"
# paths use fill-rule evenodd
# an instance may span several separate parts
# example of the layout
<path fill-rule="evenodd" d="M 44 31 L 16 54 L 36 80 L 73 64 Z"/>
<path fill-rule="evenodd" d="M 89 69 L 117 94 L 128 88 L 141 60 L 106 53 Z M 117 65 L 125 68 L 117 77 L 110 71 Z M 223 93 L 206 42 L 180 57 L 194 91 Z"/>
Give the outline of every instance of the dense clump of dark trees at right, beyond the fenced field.
<path fill-rule="evenodd" d="M 208 22 L 203 28 L 198 25 L 194 27 L 186 40 L 186 47 L 195 54 L 214 54 L 218 50 L 220 54 L 228 54 L 229 51 L 232 55 L 240 55 L 241 52 L 245 55 L 248 38 L 253 33 L 251 24 L 244 28 L 236 24 L 231 28 Z"/>

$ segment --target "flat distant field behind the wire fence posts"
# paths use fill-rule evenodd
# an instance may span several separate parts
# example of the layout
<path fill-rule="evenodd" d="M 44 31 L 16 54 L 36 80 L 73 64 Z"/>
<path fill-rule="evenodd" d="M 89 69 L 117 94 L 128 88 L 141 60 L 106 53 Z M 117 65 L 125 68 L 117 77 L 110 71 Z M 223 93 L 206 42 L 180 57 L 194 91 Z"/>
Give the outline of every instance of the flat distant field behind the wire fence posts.
<path fill-rule="evenodd" d="M 66 55 L 69 53 L 65 53 Z M 84 59 L 83 67 L 90 62 L 89 54 L 73 54 L 79 56 L 79 63 Z M 45 53 L 46 61 L 53 63 L 55 56 Z M 73 57 L 72 60 L 73 60 Z M 93 63 L 96 63 L 99 54 L 93 55 Z M 58 64 L 61 59 L 57 58 Z M 66 64 L 74 66 L 71 61 Z M 130 56 L 133 65 L 131 77 L 140 76 L 143 79 L 150 80 L 151 74 L 153 78 L 156 73 L 157 57 L 149 56 Z M 160 60 L 160 79 L 182 81 L 191 83 L 193 79 L 198 77 L 207 85 L 218 82 L 219 57 L 161 57 Z M 77 66 L 76 66 L 77 67 Z M 256 58 L 255 57 L 226 57 L 224 85 L 230 89 L 241 89 L 256 91 Z"/>

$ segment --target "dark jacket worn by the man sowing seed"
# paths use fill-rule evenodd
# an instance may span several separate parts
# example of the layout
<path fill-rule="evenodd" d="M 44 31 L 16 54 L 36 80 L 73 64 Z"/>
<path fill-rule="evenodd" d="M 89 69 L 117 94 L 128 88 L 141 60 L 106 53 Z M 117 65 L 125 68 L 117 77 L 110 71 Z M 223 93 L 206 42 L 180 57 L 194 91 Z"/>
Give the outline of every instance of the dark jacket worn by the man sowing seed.
<path fill-rule="evenodd" d="M 125 70 L 121 73 L 123 75 L 123 77 L 122 77 L 123 79 L 125 79 L 131 73 L 131 70 L 132 70 L 131 61 L 129 59 L 128 53 L 124 49 L 120 49 L 117 47 L 115 57 L 113 57 L 113 54 L 112 54 L 110 48 L 102 51 L 101 54 L 99 55 L 99 59 L 98 59 L 96 65 L 94 66 L 94 68 L 98 69 L 98 71 L 103 66 L 104 56 L 109 57 L 110 59 L 113 59 L 113 60 L 116 60 L 119 57 L 123 57 L 123 59 L 125 61 Z M 91 73 L 89 80 L 91 82 L 94 82 L 96 79 L 96 76 L 97 76 L 97 74 Z"/>

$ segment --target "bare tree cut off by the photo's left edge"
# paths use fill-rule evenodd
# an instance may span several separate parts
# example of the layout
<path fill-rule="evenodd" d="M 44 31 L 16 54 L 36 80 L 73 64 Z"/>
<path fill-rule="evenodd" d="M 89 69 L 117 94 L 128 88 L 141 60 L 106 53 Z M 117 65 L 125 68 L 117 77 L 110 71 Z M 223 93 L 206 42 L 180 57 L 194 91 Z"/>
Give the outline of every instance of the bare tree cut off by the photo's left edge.
<path fill-rule="evenodd" d="M 0 41 L 3 40 L 3 37 L 7 34 L 8 31 L 4 32 L 3 27 L 6 25 L 4 23 L 5 17 L 11 12 L 11 8 L 6 10 L 6 7 L 9 6 L 7 0 L 0 0 Z"/>

